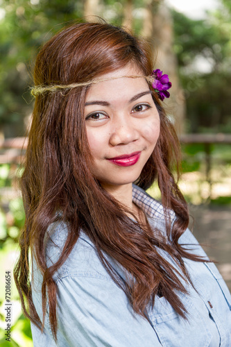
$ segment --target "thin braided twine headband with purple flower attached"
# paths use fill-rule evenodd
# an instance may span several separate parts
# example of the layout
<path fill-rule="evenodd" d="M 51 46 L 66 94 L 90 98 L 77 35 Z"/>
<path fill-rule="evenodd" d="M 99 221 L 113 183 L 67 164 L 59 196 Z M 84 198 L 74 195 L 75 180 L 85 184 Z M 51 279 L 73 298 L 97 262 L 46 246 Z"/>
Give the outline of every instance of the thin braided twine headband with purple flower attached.
<path fill-rule="evenodd" d="M 35 87 L 31 88 L 31 94 L 33 96 L 37 96 L 40 94 L 44 94 L 46 92 L 56 92 L 57 90 L 70 90 L 76 87 L 83 87 L 85 85 L 94 85 L 96 83 L 115 80 L 117 78 L 145 78 L 146 81 L 152 83 L 152 86 L 157 92 L 160 100 L 164 100 L 164 98 L 169 98 L 170 94 L 167 92 L 169 88 L 171 88 L 171 82 L 169 82 L 168 75 L 162 75 L 162 71 L 160 69 L 153 70 L 150 76 L 116 76 L 109 78 L 99 78 L 97 80 L 90 80 L 83 83 L 71 83 L 69 85 L 35 85 Z"/>

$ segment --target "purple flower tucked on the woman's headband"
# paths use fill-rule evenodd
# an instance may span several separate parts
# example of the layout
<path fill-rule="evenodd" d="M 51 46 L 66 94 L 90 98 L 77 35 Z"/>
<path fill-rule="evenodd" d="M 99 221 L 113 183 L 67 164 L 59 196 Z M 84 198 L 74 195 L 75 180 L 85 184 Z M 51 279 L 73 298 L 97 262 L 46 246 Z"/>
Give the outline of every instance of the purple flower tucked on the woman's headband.
<path fill-rule="evenodd" d="M 151 73 L 151 76 L 155 78 L 152 85 L 157 92 L 160 100 L 164 100 L 164 98 L 169 98 L 170 94 L 167 92 L 169 88 L 171 88 L 171 82 L 169 82 L 169 76 L 168 75 L 162 75 L 163 71 L 160 71 L 160 69 L 153 70 Z"/>

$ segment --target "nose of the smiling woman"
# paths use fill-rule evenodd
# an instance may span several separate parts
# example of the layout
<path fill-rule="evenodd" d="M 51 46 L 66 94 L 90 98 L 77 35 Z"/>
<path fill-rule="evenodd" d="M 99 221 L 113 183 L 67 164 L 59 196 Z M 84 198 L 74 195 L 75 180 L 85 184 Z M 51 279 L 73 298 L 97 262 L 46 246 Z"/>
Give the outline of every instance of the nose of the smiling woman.
<path fill-rule="evenodd" d="M 121 117 L 112 124 L 112 131 L 110 135 L 110 144 L 117 146 L 119 144 L 129 144 L 130 142 L 139 139 L 139 130 L 132 124 L 129 117 Z"/>

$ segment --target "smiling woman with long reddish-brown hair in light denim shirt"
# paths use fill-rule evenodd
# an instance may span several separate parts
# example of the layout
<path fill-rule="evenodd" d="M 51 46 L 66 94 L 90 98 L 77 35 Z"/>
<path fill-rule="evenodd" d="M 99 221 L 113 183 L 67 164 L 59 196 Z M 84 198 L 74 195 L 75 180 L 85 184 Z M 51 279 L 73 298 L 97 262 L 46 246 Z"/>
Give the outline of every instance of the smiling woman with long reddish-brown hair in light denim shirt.
<path fill-rule="evenodd" d="M 152 70 L 110 24 L 65 28 L 37 56 L 15 268 L 35 347 L 231 346 L 230 293 L 173 176 L 171 83 Z"/>

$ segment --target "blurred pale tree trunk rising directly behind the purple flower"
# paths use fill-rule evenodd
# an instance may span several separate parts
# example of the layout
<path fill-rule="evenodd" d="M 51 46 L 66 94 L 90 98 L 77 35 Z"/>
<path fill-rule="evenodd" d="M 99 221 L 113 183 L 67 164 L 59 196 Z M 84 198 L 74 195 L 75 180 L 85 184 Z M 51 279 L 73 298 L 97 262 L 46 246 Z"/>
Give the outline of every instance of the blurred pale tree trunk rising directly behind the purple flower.
<path fill-rule="evenodd" d="M 169 75 L 171 96 L 164 99 L 167 115 L 176 125 L 178 133 L 185 130 L 185 97 L 178 78 L 178 64 L 173 51 L 173 20 L 164 0 L 148 0 L 144 9 L 142 35 L 151 42 L 154 50 L 155 68 Z"/>

